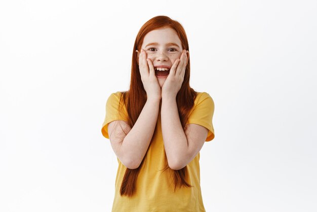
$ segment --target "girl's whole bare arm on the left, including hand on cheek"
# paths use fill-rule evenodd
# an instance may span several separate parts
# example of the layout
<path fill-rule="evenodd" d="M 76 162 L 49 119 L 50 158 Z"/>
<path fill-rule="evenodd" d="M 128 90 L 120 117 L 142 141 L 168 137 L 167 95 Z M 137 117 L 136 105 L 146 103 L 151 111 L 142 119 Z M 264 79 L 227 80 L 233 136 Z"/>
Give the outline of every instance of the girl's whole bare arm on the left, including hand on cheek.
<path fill-rule="evenodd" d="M 139 53 L 138 50 L 136 51 Z M 146 91 L 147 100 L 132 129 L 127 123 L 121 121 L 126 127 L 128 125 L 128 129 L 131 129 L 128 134 L 125 135 L 121 128 L 118 131 L 115 130 L 114 142 L 111 142 L 116 156 L 130 169 L 140 166 L 151 142 L 161 103 L 161 87 L 155 77 L 152 61 L 147 58 L 144 49 L 138 55 L 141 80 Z M 108 127 L 111 128 L 112 125 L 110 124 Z M 108 131 L 110 130 L 108 128 Z"/>

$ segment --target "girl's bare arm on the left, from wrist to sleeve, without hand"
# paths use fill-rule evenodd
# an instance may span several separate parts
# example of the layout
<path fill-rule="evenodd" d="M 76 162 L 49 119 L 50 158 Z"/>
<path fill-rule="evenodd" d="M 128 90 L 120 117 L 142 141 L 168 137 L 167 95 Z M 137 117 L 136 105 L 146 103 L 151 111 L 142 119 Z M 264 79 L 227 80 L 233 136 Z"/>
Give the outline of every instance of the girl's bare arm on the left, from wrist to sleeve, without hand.
<path fill-rule="evenodd" d="M 125 135 L 121 127 L 116 127 L 114 133 L 113 121 L 108 125 L 110 132 L 110 142 L 112 149 L 118 159 L 128 168 L 138 168 L 150 144 L 151 138 L 156 126 L 157 117 L 159 116 L 160 99 L 147 99 L 139 118 L 132 128 L 125 121 L 121 123 L 128 128 L 128 134 Z"/>

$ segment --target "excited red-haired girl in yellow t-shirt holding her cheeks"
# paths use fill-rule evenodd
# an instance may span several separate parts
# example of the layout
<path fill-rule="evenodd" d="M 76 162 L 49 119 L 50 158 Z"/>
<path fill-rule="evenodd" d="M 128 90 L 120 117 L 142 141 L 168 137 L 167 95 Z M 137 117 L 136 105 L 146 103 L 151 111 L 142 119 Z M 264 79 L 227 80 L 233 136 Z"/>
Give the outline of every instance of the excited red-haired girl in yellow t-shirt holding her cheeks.
<path fill-rule="evenodd" d="M 206 211 L 200 150 L 214 138 L 214 101 L 189 86 L 186 33 L 167 16 L 140 29 L 131 84 L 106 102 L 102 134 L 118 169 L 112 211 Z"/>

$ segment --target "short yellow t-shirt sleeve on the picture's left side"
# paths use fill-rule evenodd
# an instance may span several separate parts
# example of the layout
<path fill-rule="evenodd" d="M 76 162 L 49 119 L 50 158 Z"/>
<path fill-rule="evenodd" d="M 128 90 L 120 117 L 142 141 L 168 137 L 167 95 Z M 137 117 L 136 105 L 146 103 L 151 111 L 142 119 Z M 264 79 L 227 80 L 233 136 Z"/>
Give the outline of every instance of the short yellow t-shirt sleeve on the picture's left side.
<path fill-rule="evenodd" d="M 106 102 L 106 116 L 101 127 L 101 133 L 109 138 L 108 123 L 114 120 L 124 120 L 128 122 L 127 110 L 123 102 L 120 102 L 121 92 L 111 93 Z M 120 103 L 120 105 L 119 105 Z"/>

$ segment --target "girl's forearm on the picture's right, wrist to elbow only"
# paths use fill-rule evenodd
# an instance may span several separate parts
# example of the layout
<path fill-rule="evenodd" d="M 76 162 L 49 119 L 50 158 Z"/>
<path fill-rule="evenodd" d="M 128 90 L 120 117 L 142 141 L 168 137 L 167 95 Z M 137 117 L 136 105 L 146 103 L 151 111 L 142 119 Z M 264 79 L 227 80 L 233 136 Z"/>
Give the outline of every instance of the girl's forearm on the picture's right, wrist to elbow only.
<path fill-rule="evenodd" d="M 169 166 L 179 169 L 188 152 L 188 144 L 179 119 L 176 98 L 162 98 L 161 122 Z"/>

